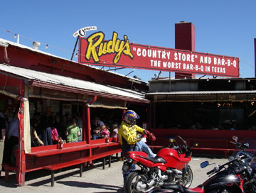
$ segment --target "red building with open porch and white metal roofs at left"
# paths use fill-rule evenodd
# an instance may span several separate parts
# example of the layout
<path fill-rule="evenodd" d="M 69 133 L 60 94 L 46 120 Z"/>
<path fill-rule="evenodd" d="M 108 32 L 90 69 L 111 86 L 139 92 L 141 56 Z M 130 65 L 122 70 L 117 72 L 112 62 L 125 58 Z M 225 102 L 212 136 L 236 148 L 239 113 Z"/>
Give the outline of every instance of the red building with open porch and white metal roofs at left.
<path fill-rule="evenodd" d="M 5 168 L 16 171 L 19 185 L 24 185 L 26 172 L 82 164 L 120 152 L 119 143 L 112 138 L 110 143 L 91 140 L 91 116 L 103 114 L 101 118 L 108 118 L 111 114 L 114 121 L 120 122 L 127 107 L 138 112 L 148 109 L 145 82 L 7 40 L 0 39 L 0 45 L 0 114 L 10 121 L 20 109 L 16 165 Z M 62 150 L 58 145 L 31 148 L 29 119 L 36 112 L 45 116 L 80 113 L 82 142 L 63 144 Z"/>

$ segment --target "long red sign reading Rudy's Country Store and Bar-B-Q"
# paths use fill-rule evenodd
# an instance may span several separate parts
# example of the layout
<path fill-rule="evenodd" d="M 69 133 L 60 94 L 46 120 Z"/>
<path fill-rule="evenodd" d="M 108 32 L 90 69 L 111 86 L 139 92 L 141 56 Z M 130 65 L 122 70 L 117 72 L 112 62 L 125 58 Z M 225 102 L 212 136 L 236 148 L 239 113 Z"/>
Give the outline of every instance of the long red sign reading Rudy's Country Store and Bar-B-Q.
<path fill-rule="evenodd" d="M 80 37 L 79 50 L 78 62 L 84 64 L 239 77 L 238 57 L 129 43 L 116 32 L 111 40 L 102 32 Z"/>

